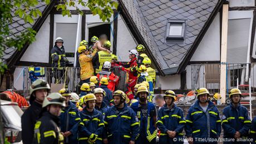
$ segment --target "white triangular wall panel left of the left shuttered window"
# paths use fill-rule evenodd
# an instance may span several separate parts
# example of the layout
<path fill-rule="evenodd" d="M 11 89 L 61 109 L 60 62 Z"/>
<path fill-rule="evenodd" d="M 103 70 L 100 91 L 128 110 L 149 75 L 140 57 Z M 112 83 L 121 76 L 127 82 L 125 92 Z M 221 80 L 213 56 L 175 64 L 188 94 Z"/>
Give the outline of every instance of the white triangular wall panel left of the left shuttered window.
<path fill-rule="evenodd" d="M 45 62 L 49 61 L 50 16 L 46 18 L 36 34 L 36 41 L 30 44 L 21 57 L 21 61 Z"/>

